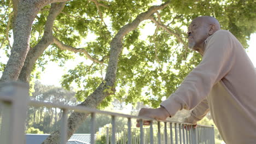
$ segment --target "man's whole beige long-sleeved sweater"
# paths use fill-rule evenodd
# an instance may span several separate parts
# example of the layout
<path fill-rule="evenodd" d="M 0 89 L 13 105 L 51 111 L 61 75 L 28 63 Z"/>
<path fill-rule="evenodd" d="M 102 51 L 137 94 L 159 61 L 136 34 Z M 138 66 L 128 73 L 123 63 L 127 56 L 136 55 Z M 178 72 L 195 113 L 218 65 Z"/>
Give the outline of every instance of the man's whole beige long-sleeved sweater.
<path fill-rule="evenodd" d="M 194 124 L 210 110 L 226 143 L 256 143 L 256 70 L 228 31 L 205 40 L 201 63 L 161 106 L 170 116 L 193 109 L 188 121 Z"/>

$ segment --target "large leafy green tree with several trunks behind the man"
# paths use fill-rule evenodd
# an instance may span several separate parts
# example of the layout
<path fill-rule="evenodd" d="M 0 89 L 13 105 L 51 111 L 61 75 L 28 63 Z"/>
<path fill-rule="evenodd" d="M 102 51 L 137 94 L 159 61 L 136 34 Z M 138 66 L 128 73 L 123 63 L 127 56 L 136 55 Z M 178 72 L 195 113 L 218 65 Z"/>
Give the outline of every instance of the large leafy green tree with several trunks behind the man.
<path fill-rule="evenodd" d="M 72 82 L 77 83 L 80 90 L 76 96 L 84 100 L 80 105 L 100 108 L 115 97 L 155 107 L 200 62 L 200 56 L 187 49 L 185 31 L 191 19 L 215 16 L 245 47 L 256 30 L 253 0 L 173 0 L 152 6 L 155 3 L 1 1 L 0 48 L 9 58 L 1 63 L 1 81 L 29 83 L 48 61 L 63 65 L 79 55 L 84 61 L 63 75 L 62 86 L 68 89 Z M 150 27 L 155 28 L 154 33 L 145 34 L 143 28 L 148 25 L 154 25 Z M 85 118 L 83 113 L 72 113 L 68 137 Z M 59 135 L 55 131 L 44 143 L 59 142 Z"/>

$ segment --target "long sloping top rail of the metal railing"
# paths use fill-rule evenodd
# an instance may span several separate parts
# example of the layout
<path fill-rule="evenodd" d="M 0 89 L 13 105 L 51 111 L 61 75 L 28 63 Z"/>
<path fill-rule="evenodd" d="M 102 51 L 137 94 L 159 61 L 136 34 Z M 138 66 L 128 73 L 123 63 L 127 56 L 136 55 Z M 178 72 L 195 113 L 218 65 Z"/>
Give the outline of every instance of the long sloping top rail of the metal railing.
<path fill-rule="evenodd" d="M 12 101 L 12 98 L 4 96 L 4 95 L 0 95 L 0 100 Z M 79 106 L 79 105 L 78 106 L 70 106 L 70 105 L 63 105 L 63 104 L 47 103 L 47 102 L 36 101 L 36 100 L 30 100 L 29 105 L 35 106 L 35 107 L 57 107 L 57 108 L 63 109 L 63 110 L 73 110 L 75 112 L 82 112 L 82 113 L 99 113 L 99 114 L 110 115 L 110 116 L 118 116 L 118 117 L 133 118 L 133 119 L 143 119 L 143 120 L 147 120 L 147 121 L 156 121 L 156 119 L 154 119 L 154 118 L 138 117 L 138 116 L 126 115 L 126 114 L 117 113 L 117 112 L 101 111 L 101 110 L 97 110 L 97 109 L 92 109 L 91 107 Z M 191 125 L 191 123 L 175 122 L 175 121 L 159 121 L 159 122 Z M 209 125 L 200 125 L 200 126 L 213 127 L 213 126 L 209 126 Z"/>

